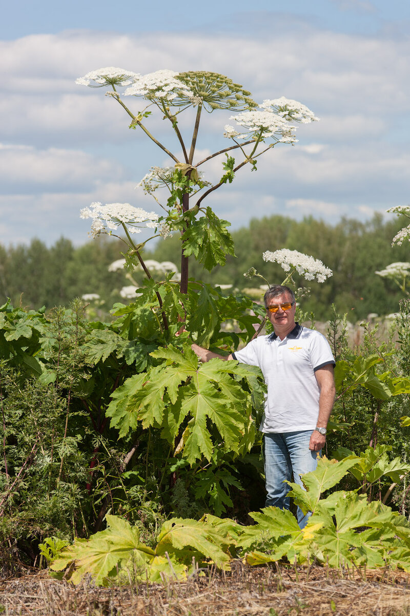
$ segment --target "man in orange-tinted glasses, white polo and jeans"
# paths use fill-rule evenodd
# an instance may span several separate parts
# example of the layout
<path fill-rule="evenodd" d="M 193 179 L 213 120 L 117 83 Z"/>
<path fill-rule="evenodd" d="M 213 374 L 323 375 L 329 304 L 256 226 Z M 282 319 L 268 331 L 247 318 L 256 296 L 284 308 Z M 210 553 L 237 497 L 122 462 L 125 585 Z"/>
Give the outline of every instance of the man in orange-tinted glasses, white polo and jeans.
<path fill-rule="evenodd" d="M 300 476 L 317 467 L 318 452 L 326 442 L 326 426 L 334 403 L 335 365 L 325 336 L 295 322 L 296 301 L 288 286 L 274 285 L 264 296 L 267 316 L 274 326 L 270 336 L 259 336 L 228 357 L 192 344 L 203 361 L 214 357 L 259 366 L 267 384 L 264 432 L 266 506 L 290 508 L 285 480 L 302 485 Z M 307 524 L 310 512 L 298 508 L 298 524 Z"/>

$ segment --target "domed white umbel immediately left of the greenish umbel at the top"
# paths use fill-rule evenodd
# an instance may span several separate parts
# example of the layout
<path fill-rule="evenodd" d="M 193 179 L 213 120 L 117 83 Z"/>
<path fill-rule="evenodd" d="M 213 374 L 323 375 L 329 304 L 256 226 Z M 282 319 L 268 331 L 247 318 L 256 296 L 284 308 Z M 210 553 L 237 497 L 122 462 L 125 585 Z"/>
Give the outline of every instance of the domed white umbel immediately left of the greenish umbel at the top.
<path fill-rule="evenodd" d="M 140 76 L 135 79 L 132 86 L 128 87 L 125 96 L 143 96 L 148 100 L 167 100 L 170 102 L 173 99 L 180 97 L 194 98 L 192 92 L 182 81 L 176 79 L 178 75 L 175 71 L 160 70 L 155 73 Z"/>

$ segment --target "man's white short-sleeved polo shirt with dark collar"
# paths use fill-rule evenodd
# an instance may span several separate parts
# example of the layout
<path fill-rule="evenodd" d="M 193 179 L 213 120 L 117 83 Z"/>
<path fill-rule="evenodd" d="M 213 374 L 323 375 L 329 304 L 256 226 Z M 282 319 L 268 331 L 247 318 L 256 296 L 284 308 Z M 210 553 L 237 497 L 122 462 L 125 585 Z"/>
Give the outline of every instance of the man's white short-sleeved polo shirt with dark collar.
<path fill-rule="evenodd" d="M 283 340 L 276 334 L 259 336 L 232 357 L 262 370 L 267 385 L 262 432 L 316 428 L 320 390 L 315 371 L 335 365 L 323 334 L 296 323 Z"/>

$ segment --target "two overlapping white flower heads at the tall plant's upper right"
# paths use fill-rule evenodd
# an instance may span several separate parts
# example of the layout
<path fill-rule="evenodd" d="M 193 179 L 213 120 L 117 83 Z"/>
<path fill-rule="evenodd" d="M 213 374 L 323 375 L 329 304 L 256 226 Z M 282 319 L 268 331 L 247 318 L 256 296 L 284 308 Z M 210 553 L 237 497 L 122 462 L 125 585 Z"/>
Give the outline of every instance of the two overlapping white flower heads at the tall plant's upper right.
<path fill-rule="evenodd" d="M 302 105 L 297 100 L 282 97 L 281 99 L 264 100 L 258 110 L 243 111 L 243 113 L 231 116 L 230 120 L 235 120 L 239 126 L 247 129 L 247 132 L 239 134 L 227 124 L 224 137 L 251 139 L 261 133 L 263 139 L 273 137 L 275 143 L 294 144 L 297 141 L 294 135 L 297 127 L 291 123 L 307 124 L 317 121 L 318 118 L 306 105 Z"/>

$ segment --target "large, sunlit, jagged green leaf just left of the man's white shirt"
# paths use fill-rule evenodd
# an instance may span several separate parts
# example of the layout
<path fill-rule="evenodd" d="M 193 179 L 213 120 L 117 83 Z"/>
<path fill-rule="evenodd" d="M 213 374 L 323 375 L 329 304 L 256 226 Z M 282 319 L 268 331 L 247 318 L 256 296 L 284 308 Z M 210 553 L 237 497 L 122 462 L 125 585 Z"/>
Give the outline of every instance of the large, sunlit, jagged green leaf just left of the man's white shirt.
<path fill-rule="evenodd" d="M 251 446 L 251 389 L 258 383 L 254 370 L 234 360 L 199 364 L 188 345 L 183 352 L 170 345 L 151 356 L 161 363 L 146 375 L 127 379 L 112 394 L 107 415 L 121 436 L 140 420 L 144 427 L 161 426 L 162 436 L 174 444 L 183 427 L 183 437 L 176 445 L 190 463 L 202 456 L 211 460 L 210 426 L 218 430 L 224 451 L 239 453 Z"/>

